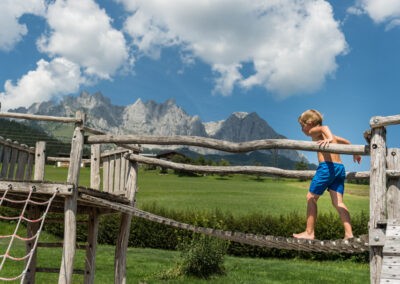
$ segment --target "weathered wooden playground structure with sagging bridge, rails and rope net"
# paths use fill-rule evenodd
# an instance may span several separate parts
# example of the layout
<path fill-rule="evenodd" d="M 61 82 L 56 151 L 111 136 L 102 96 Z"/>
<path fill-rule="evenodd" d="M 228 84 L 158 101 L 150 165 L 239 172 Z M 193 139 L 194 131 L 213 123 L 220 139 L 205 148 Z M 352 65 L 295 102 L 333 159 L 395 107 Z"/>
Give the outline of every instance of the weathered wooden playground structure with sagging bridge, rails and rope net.
<path fill-rule="evenodd" d="M 218 238 L 270 248 L 316 252 L 370 252 L 371 283 L 400 283 L 400 149 L 388 149 L 386 126 L 400 124 L 400 115 L 373 117 L 371 129 L 366 132 L 367 145 L 330 144 L 320 148 L 314 142 L 288 139 L 266 139 L 242 143 L 220 141 L 194 136 L 138 136 L 111 135 L 85 125 L 85 115 L 77 112 L 75 117 L 53 117 L 19 113 L 0 113 L 0 118 L 28 119 L 74 124 L 68 177 L 59 183 L 48 182 L 45 177 L 45 162 L 56 160 L 46 157 L 46 144 L 38 141 L 28 148 L 0 138 L 0 206 L 18 209 L 19 216 L 0 216 L 2 220 L 14 220 L 13 234 L 0 236 L 7 240 L 8 247 L 0 255 L 0 281 L 35 283 L 35 274 L 59 273 L 59 283 L 72 283 L 74 273 L 83 274 L 84 283 L 94 282 L 96 245 L 101 214 L 120 213 L 121 223 L 116 241 L 114 260 L 114 283 L 127 283 L 126 251 L 130 224 L 133 216 L 167 224 L 177 228 L 203 233 Z M 101 151 L 102 144 L 115 144 L 115 150 Z M 164 168 L 193 171 L 197 173 L 266 174 L 292 178 L 311 178 L 314 171 L 284 170 L 261 166 L 195 166 L 148 158 L 140 155 L 138 145 L 184 145 L 220 150 L 230 153 L 250 152 L 265 149 L 294 149 L 325 151 L 340 154 L 370 155 L 368 172 L 347 173 L 347 179 L 370 179 L 370 220 L 368 235 L 351 240 L 303 240 L 277 236 L 260 236 L 240 232 L 203 228 L 181 223 L 135 207 L 138 164 L 151 164 Z M 90 187 L 79 185 L 80 165 L 84 145 L 90 145 Z M 64 158 L 65 159 L 65 158 Z M 103 180 L 101 182 L 102 171 Z M 54 247 L 55 244 L 39 242 L 40 232 L 49 212 L 63 213 L 64 240 L 59 268 L 39 267 L 36 253 L 39 247 Z M 88 216 L 88 239 L 85 269 L 74 270 L 77 249 L 76 232 L 78 215 Z M 27 236 L 17 234 L 21 222 L 26 222 Z M 26 255 L 14 257 L 9 251 L 16 240 L 26 242 Z M 11 278 L 3 277 L 1 270 L 8 261 L 24 261 L 25 269 Z"/>

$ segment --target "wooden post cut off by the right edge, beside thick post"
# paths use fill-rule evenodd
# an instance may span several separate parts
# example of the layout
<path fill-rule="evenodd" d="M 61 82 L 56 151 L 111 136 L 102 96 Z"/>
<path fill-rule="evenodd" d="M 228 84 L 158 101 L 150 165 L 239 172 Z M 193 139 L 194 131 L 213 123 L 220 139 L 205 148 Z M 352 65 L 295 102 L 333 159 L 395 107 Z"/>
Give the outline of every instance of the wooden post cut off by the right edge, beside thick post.
<path fill-rule="evenodd" d="M 388 170 L 400 169 L 400 149 L 389 149 L 387 155 Z M 386 193 L 386 209 L 388 219 L 400 218 L 400 179 L 398 177 L 388 179 Z"/>

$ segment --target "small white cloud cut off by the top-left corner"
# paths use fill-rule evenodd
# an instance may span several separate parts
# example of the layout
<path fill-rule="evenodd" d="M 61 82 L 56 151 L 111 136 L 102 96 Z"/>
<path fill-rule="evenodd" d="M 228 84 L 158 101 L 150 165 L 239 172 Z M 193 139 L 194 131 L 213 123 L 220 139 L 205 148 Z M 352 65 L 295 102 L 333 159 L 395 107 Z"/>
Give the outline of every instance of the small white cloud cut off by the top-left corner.
<path fill-rule="evenodd" d="M 19 20 L 24 14 L 42 16 L 44 0 L 2 0 L 0 1 L 0 50 L 11 50 L 28 33 L 28 28 Z"/>

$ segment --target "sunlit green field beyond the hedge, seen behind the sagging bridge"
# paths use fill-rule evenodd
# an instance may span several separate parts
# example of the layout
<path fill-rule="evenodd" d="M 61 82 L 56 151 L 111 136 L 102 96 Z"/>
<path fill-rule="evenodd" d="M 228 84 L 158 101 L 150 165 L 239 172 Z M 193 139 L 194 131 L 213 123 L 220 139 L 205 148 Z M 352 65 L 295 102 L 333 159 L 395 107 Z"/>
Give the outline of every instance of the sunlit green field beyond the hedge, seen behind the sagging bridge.
<path fill-rule="evenodd" d="M 175 210 L 230 212 L 233 215 L 262 213 L 285 215 L 305 212 L 309 181 L 218 175 L 178 177 L 141 171 L 138 178 L 137 206 L 155 203 Z M 352 214 L 368 212 L 367 185 L 346 185 L 345 202 Z M 329 194 L 318 201 L 319 212 L 335 212 Z"/>

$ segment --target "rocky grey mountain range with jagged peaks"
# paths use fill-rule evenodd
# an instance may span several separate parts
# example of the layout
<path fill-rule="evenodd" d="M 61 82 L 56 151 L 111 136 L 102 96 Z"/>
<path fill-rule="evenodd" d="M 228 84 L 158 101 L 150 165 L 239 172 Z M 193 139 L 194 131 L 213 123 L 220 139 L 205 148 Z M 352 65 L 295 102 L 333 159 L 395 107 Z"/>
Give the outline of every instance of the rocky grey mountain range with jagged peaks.
<path fill-rule="evenodd" d="M 173 99 L 157 103 L 139 98 L 131 105 L 116 106 L 99 92 L 82 92 L 79 96 L 65 96 L 58 102 L 36 103 L 11 111 L 68 117 L 74 116 L 77 110 L 87 114 L 90 127 L 112 134 L 189 135 L 232 142 L 285 138 L 255 112 L 235 112 L 225 120 L 202 122 L 200 117 L 188 115 Z M 278 155 L 292 161 L 306 161 L 294 150 L 279 150 Z"/>

